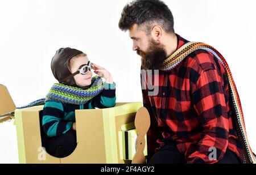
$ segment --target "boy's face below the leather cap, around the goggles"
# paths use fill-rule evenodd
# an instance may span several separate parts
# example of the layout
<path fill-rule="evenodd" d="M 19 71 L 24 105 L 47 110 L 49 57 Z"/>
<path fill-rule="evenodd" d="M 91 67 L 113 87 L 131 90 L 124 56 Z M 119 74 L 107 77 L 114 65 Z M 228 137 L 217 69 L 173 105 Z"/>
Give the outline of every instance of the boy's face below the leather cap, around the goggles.
<path fill-rule="evenodd" d="M 72 74 L 74 72 L 76 72 L 77 70 L 79 70 L 79 67 L 81 65 L 85 65 L 87 64 L 89 61 L 89 59 L 85 56 L 85 57 L 78 57 L 78 58 L 71 58 L 70 63 L 71 63 L 71 72 Z M 85 87 L 85 86 L 89 86 L 92 83 L 92 72 L 89 70 L 87 72 L 87 74 L 82 75 L 82 74 L 77 74 L 74 76 L 75 82 L 77 84 L 77 86 L 80 87 Z"/>

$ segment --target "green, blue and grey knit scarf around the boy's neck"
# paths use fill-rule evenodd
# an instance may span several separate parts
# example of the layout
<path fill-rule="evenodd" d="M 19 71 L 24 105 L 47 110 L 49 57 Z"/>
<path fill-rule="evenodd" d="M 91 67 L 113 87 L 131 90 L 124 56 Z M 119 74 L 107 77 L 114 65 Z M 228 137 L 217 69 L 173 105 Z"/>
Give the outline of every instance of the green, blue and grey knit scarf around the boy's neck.
<path fill-rule="evenodd" d="M 21 106 L 28 108 L 31 106 L 43 105 L 46 101 L 53 100 L 61 103 L 81 105 L 96 97 L 103 89 L 103 82 L 100 76 L 92 78 L 92 85 L 88 89 L 67 86 L 65 84 L 55 83 L 49 90 L 46 98 L 33 101 L 32 103 Z"/>

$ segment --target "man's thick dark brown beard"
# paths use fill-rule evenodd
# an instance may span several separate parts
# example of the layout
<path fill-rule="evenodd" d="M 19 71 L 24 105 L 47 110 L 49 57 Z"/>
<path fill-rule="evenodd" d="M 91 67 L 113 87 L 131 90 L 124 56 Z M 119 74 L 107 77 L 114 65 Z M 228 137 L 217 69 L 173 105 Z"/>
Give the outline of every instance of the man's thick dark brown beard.
<path fill-rule="evenodd" d="M 167 57 L 166 50 L 163 46 L 152 39 L 150 40 L 148 52 L 145 53 L 138 49 L 137 54 L 141 56 L 141 66 L 144 70 L 161 69 L 163 61 Z"/>

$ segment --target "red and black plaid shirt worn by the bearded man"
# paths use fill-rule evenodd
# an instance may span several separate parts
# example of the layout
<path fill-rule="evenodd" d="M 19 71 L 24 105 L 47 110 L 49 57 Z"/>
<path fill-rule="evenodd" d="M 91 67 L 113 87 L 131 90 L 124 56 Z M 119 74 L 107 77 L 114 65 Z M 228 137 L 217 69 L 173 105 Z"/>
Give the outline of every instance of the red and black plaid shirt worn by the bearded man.
<path fill-rule="evenodd" d="M 177 49 L 187 40 L 177 35 Z M 148 159 L 163 147 L 175 143 L 187 163 L 216 163 L 226 148 L 242 160 L 242 144 L 234 129 L 234 111 L 224 66 L 212 53 L 199 49 L 189 54 L 175 69 L 159 70 L 159 82 L 152 72 L 158 94 L 148 95 L 149 80 L 141 75 L 143 105 L 150 113 L 147 133 Z M 141 77 L 142 78 L 142 77 Z M 211 147 L 217 160 L 210 160 Z"/>

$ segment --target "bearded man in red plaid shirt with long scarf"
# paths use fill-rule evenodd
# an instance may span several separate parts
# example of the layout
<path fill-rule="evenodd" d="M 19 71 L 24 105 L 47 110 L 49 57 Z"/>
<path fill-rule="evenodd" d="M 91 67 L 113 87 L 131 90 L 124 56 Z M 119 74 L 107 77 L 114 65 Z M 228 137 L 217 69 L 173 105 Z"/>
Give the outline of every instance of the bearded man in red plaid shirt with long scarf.
<path fill-rule="evenodd" d="M 236 86 L 216 49 L 177 35 L 158 0 L 127 4 L 119 28 L 129 31 L 142 72 L 152 70 L 141 75 L 148 163 L 255 163 Z"/>

